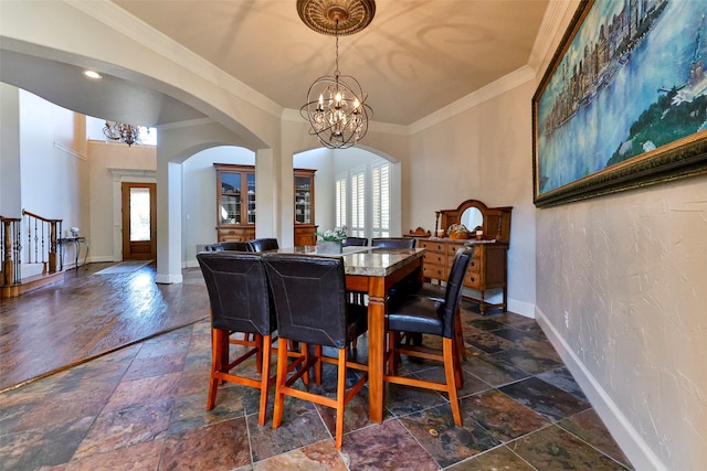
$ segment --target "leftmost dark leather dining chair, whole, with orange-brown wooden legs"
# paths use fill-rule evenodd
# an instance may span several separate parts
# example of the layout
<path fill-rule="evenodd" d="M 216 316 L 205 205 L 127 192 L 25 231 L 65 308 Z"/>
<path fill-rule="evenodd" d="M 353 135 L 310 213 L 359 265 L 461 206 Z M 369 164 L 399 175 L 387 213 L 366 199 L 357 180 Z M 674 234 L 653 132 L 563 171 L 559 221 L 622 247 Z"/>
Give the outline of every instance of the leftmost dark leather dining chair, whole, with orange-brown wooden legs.
<path fill-rule="evenodd" d="M 267 389 L 275 381 L 270 367 L 272 334 L 277 322 L 261 258 L 255 254 L 228 250 L 197 254 L 211 304 L 211 373 L 207 410 L 213 409 L 220 382 L 238 383 L 260 389 L 257 422 L 264 425 Z M 244 340 L 230 339 L 234 332 L 243 332 Z M 253 340 L 249 340 L 249 334 Z M 245 352 L 231 361 L 229 344 L 242 345 Z M 241 374 L 232 372 L 253 355 L 260 379 L 244 376 L 245 367 L 239 368 Z"/>

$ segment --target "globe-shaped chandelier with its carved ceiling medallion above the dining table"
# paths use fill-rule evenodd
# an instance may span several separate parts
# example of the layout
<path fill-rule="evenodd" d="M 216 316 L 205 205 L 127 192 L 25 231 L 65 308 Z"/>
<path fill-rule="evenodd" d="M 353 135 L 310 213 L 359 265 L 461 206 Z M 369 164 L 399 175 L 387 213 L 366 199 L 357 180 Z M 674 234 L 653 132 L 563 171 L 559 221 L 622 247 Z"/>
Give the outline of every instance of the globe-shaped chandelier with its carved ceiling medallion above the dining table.
<path fill-rule="evenodd" d="M 312 125 L 309 133 L 329 149 L 347 149 L 368 131 L 373 110 L 350 75 L 339 72 L 339 35 L 361 31 L 376 14 L 374 0 L 297 0 L 297 12 L 312 30 L 336 36 L 334 75 L 317 78 L 299 114 Z"/>

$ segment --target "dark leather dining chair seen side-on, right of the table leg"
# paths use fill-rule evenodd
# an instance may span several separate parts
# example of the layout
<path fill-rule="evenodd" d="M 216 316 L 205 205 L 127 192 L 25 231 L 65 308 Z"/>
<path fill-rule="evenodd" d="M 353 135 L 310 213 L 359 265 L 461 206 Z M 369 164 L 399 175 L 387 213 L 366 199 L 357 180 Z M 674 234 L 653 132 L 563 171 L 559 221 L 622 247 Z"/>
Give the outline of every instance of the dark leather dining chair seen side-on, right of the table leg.
<path fill-rule="evenodd" d="M 458 324 L 455 318 L 458 314 L 464 277 L 473 254 L 474 247 L 465 247 L 454 256 L 444 299 L 418 296 L 395 299 L 389 304 L 388 313 L 386 314 L 388 371 L 383 376 L 384 381 L 405 386 L 446 392 L 452 406 L 454 424 L 457 426 L 462 425 L 462 414 L 456 389 L 462 386 L 463 372 L 457 352 L 455 331 Z M 441 336 L 442 351 L 402 344 L 400 342 L 401 332 Z M 401 353 L 419 358 L 441 361 L 444 364 L 445 382 L 440 383 L 397 375 L 398 355 Z"/>

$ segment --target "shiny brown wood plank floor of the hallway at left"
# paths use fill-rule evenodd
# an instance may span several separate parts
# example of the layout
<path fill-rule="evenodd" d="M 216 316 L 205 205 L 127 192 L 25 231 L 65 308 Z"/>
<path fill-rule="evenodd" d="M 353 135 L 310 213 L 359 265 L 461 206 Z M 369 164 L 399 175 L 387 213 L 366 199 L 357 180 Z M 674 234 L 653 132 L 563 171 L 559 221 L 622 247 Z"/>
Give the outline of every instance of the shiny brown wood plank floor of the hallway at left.
<path fill-rule="evenodd" d="M 155 264 L 97 274 L 113 265 L 0 301 L 0 392 L 209 315 L 199 268 L 183 283 L 157 285 Z"/>

